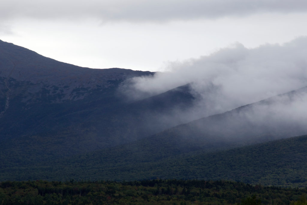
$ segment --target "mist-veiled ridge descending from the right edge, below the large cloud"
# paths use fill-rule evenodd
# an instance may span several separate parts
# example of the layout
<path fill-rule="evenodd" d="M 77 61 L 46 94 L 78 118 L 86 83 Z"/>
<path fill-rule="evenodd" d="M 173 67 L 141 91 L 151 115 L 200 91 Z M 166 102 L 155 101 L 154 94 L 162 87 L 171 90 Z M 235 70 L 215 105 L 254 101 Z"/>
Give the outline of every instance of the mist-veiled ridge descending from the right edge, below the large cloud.
<path fill-rule="evenodd" d="M 150 137 L 100 151 L 115 162 L 153 163 L 181 154 L 217 152 L 307 133 L 306 121 L 281 118 L 282 109 L 297 108 L 307 87 L 241 106 L 228 112 L 177 125 Z M 302 101 L 305 104 L 305 101 Z M 276 110 L 276 107 L 278 109 Z M 260 113 L 261 111 L 261 113 Z M 277 112 L 277 113 L 276 113 Z M 274 116 L 273 115 L 277 116 Z M 304 114 L 304 113 L 303 113 Z M 271 118 L 266 118 L 266 117 Z M 110 164 L 111 161 L 103 160 Z"/>

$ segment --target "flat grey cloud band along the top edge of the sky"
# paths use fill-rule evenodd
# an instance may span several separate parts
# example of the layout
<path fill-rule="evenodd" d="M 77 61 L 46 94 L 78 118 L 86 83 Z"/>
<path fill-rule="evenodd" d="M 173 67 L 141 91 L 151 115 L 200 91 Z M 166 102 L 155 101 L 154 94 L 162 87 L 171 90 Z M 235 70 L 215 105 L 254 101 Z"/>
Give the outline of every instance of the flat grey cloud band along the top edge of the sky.
<path fill-rule="evenodd" d="M 212 19 L 263 12 L 305 12 L 305 0 L 89 0 L 21 1 L 4 0 L 0 17 L 99 18 L 102 21 L 165 22 Z"/>

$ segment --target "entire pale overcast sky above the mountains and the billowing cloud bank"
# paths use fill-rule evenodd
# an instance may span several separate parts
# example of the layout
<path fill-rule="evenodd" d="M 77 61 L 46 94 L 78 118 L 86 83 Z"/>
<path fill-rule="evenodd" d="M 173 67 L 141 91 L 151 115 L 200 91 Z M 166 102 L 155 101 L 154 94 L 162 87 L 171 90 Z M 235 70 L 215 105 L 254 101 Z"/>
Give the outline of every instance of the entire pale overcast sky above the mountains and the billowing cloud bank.
<path fill-rule="evenodd" d="M 2 0 L 0 39 L 90 68 L 163 71 L 307 35 L 306 0 Z"/>

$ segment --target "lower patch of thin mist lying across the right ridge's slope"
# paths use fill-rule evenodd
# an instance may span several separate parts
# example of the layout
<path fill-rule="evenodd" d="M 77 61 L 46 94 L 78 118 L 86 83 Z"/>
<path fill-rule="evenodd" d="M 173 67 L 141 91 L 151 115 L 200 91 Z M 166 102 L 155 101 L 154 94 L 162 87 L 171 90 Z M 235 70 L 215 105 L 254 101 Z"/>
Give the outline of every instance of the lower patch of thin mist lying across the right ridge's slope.
<path fill-rule="evenodd" d="M 307 133 L 307 87 L 191 122 L 200 137 L 238 145 L 301 136 Z M 180 130 L 181 131 L 181 130 Z M 180 133 L 179 133 L 180 135 Z M 190 137 L 191 135 L 186 135 Z"/>

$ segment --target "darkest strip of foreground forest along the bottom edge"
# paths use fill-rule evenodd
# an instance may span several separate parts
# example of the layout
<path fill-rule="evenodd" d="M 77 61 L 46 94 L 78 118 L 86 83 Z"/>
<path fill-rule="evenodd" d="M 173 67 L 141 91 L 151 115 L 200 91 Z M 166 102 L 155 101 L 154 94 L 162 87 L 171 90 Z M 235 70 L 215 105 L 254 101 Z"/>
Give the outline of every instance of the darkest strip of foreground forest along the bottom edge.
<path fill-rule="evenodd" d="M 233 181 L 5 181 L 0 204 L 304 204 L 307 188 Z"/>

